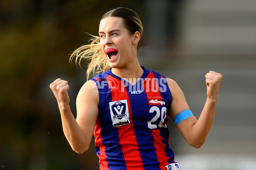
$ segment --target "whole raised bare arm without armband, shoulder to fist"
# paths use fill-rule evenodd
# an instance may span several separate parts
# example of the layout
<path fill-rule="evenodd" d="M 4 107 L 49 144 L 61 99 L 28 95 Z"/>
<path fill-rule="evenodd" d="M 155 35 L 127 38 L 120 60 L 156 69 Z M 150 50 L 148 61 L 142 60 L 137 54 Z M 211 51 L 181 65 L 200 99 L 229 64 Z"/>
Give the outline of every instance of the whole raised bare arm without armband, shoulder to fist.
<path fill-rule="evenodd" d="M 86 82 L 79 91 L 76 119 L 70 110 L 67 81 L 56 79 L 50 85 L 58 102 L 64 135 L 72 149 L 79 154 L 88 150 L 98 116 L 99 95 L 89 87 L 93 83 Z"/>

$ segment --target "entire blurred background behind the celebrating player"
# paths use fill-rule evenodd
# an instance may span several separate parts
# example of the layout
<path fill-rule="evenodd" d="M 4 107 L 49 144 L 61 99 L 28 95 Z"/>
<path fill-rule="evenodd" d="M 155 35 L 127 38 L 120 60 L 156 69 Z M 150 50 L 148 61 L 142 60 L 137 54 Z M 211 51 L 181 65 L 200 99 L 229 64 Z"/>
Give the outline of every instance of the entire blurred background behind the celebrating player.
<path fill-rule="evenodd" d="M 200 149 L 169 125 L 182 170 L 256 169 L 256 6 L 253 0 L 1 0 L 0 169 L 96 170 L 93 146 L 79 155 L 64 137 L 49 84 L 70 84 L 70 106 L 86 73 L 70 54 L 98 33 L 111 8 L 134 9 L 145 32 L 141 65 L 175 79 L 198 118 L 206 99 L 204 75 L 223 74 L 215 123 Z M 84 63 L 84 68 L 86 63 Z M 171 124 L 171 123 L 170 123 Z M 233 157 L 232 157 L 232 156 Z M 198 163 L 200 164 L 194 164 Z M 213 162 L 218 162 L 213 165 Z M 198 167 L 196 167 L 198 166 Z M 213 168 L 214 167 L 214 168 Z"/>

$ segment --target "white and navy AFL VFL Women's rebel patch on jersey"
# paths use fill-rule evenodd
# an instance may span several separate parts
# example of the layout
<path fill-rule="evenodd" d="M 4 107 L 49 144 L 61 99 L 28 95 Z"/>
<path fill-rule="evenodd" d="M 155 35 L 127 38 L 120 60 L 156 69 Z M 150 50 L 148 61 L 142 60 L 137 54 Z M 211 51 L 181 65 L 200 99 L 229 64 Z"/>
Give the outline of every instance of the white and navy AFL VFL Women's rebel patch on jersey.
<path fill-rule="evenodd" d="M 109 102 L 111 120 L 113 127 L 130 124 L 127 100 Z"/>

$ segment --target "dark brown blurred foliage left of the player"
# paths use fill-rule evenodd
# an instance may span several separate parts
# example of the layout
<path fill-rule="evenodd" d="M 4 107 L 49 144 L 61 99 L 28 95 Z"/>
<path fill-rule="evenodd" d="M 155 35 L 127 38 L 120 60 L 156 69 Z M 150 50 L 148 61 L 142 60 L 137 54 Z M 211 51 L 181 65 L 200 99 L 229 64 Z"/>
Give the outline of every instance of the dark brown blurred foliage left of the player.
<path fill-rule="evenodd" d="M 75 100 L 85 73 L 79 77 L 68 59 L 87 43 L 84 32 L 97 34 L 100 18 L 111 8 L 125 6 L 140 14 L 142 4 L 136 0 L 0 1 L 0 169 L 99 167 L 93 146 L 83 155 L 69 147 L 49 84 L 57 76 L 70 77 Z"/>

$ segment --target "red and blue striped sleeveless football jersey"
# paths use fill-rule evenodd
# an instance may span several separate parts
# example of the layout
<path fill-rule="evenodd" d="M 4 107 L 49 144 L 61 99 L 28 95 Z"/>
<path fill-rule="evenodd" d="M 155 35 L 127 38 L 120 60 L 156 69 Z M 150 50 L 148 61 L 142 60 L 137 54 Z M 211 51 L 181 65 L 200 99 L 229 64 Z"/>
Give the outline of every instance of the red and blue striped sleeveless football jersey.
<path fill-rule="evenodd" d="M 171 91 L 165 77 L 142 68 L 134 85 L 111 69 L 92 79 L 99 91 L 94 137 L 100 170 L 178 168 L 167 128 Z"/>

